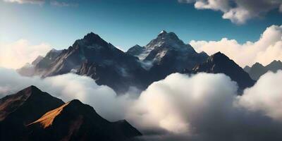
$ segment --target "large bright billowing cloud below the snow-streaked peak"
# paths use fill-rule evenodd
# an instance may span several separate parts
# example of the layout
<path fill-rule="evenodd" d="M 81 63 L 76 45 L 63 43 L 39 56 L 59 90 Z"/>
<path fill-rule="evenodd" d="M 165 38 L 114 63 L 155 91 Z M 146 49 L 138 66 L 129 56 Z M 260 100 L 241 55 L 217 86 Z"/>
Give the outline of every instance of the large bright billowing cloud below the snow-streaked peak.
<path fill-rule="evenodd" d="M 190 77 L 176 73 L 142 92 L 130 115 L 138 127 L 186 133 L 190 130 L 189 121 L 200 116 L 200 112 L 211 110 L 211 106 L 221 107 L 212 109 L 216 113 L 229 109 L 225 105 L 232 104 L 236 90 L 235 82 L 223 74 L 200 73 Z"/>

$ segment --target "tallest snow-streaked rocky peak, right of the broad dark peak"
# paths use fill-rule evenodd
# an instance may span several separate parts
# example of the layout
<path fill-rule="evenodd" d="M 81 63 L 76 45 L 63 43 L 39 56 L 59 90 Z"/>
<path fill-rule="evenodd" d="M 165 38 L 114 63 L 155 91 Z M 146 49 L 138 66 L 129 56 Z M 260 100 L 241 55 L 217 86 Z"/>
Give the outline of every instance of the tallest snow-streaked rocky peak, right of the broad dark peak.
<path fill-rule="evenodd" d="M 208 57 L 204 52 L 198 54 L 190 44 L 184 44 L 175 33 L 164 30 L 145 47 L 135 46 L 126 53 L 142 61 L 142 66 L 149 71 L 150 82 L 164 79 L 184 68 L 192 69 Z"/>

